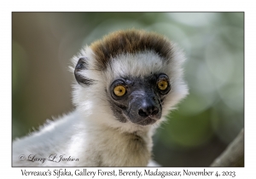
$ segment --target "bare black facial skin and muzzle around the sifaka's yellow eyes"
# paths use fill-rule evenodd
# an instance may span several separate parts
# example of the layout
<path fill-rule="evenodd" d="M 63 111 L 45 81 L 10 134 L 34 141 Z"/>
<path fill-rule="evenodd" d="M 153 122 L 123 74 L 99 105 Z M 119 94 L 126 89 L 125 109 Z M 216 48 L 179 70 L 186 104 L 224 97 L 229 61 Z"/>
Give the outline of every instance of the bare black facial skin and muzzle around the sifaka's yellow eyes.
<path fill-rule="evenodd" d="M 166 90 L 160 90 L 157 83 L 165 79 L 168 82 Z M 125 95 L 117 96 L 113 89 L 125 86 Z M 146 78 L 119 78 L 109 87 L 112 109 L 120 122 L 128 118 L 138 125 L 154 124 L 161 118 L 162 101 L 171 90 L 168 76 L 164 73 L 152 74 Z"/>

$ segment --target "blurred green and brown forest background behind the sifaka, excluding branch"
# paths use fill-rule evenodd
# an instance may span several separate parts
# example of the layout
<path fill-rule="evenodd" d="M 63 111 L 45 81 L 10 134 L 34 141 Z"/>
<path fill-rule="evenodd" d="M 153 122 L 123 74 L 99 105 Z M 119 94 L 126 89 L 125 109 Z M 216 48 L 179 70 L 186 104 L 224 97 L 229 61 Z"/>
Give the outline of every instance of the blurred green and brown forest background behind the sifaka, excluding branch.
<path fill-rule="evenodd" d="M 189 96 L 154 135 L 154 159 L 210 165 L 244 126 L 243 13 L 13 13 L 12 138 L 71 112 L 70 59 L 132 27 L 165 35 L 188 59 Z"/>

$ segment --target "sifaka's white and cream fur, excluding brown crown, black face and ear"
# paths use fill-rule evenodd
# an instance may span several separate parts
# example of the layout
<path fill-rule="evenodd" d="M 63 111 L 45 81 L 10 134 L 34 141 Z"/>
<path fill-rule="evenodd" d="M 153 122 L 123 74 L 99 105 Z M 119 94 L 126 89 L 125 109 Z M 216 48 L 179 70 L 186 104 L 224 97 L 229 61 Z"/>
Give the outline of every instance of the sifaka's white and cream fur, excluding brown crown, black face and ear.
<path fill-rule="evenodd" d="M 55 119 L 45 124 L 41 130 L 14 141 L 14 166 L 147 165 L 149 160 L 147 153 L 151 153 L 152 150 L 154 130 L 177 102 L 188 94 L 181 68 L 184 58 L 179 51 L 174 52 L 175 57 L 168 64 L 152 51 L 136 55 L 119 55 L 112 59 L 105 72 L 96 70 L 96 61 L 90 47 L 85 47 L 73 58 L 73 66 L 81 56 L 85 56 L 89 64 L 89 68 L 81 74 L 95 80 L 95 83 L 90 86 L 73 85 L 73 104 L 76 106 L 73 113 Z M 73 71 L 73 68 L 71 69 Z M 172 85 L 172 90 L 166 95 L 162 118 L 156 124 L 147 126 L 132 124 L 129 121 L 119 122 L 109 107 L 105 90 L 108 92 L 108 86 L 115 78 L 122 75 L 143 78 L 151 72 L 165 72 Z M 141 154 L 140 151 L 133 151 L 134 149 L 128 145 L 135 133 L 146 144 Z M 44 163 L 28 161 L 28 156 L 31 154 L 38 159 L 45 159 Z M 55 160 L 64 155 L 65 158 L 70 156 L 79 161 L 52 162 L 48 160 L 52 154 L 56 154 Z M 20 161 L 23 155 L 26 159 Z"/>

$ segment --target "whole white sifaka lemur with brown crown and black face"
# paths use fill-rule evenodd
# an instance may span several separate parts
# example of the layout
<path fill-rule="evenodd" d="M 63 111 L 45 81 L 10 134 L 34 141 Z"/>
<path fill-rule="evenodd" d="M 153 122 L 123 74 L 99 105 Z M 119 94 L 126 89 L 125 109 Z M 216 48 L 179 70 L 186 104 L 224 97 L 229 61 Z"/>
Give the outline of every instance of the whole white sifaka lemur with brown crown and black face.
<path fill-rule="evenodd" d="M 13 166 L 148 165 L 154 130 L 188 94 L 183 61 L 174 43 L 143 30 L 84 47 L 73 57 L 76 109 L 15 140 Z"/>

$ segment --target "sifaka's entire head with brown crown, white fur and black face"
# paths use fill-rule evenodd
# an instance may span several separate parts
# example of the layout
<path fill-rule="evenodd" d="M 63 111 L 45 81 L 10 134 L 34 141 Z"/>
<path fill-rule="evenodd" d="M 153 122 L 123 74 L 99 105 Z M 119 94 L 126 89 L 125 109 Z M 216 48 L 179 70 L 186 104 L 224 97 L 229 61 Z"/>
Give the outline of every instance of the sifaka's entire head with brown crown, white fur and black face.
<path fill-rule="evenodd" d="M 112 125 L 158 124 L 188 94 L 183 61 L 176 45 L 154 32 L 113 32 L 73 58 L 73 103 Z"/>

